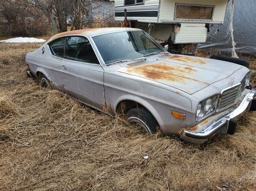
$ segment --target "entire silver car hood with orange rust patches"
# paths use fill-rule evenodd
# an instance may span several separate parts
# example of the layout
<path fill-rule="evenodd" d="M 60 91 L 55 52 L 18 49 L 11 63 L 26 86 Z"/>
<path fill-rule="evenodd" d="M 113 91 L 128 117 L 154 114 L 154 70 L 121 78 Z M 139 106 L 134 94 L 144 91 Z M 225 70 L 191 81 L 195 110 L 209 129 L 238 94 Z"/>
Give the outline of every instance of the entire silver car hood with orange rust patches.
<path fill-rule="evenodd" d="M 122 66 L 118 72 L 159 82 L 188 94 L 223 80 L 241 68 L 230 62 L 172 54 Z"/>

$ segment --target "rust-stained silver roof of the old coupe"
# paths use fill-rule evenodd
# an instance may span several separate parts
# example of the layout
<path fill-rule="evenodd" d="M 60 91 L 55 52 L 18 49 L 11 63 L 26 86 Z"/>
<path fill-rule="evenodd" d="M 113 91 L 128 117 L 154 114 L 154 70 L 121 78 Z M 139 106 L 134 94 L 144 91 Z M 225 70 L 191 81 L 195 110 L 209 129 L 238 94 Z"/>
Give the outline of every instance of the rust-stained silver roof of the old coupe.
<path fill-rule="evenodd" d="M 120 31 L 137 31 L 137 30 L 140 30 L 140 29 L 125 28 L 125 27 L 82 29 L 82 30 L 67 31 L 67 32 L 55 34 L 55 36 L 53 36 L 50 40 L 57 39 L 63 36 L 69 36 L 69 35 L 85 35 L 86 37 L 92 37 L 92 36 L 96 36 L 104 33 L 120 32 Z"/>

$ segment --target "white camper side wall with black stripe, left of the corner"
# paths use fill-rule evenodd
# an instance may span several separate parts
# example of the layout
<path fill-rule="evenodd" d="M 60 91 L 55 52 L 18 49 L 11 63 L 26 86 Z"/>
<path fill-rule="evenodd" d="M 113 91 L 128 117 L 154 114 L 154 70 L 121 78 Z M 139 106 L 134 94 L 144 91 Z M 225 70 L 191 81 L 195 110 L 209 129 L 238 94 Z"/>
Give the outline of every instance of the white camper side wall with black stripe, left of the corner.
<path fill-rule="evenodd" d="M 114 6 L 116 20 L 124 20 L 124 9 L 127 10 L 128 20 L 138 20 L 138 22 L 152 23 L 156 23 L 158 20 L 159 0 L 145 0 L 145 3 L 142 5 L 126 6 L 124 6 L 124 0 L 116 0 L 114 1 Z"/>

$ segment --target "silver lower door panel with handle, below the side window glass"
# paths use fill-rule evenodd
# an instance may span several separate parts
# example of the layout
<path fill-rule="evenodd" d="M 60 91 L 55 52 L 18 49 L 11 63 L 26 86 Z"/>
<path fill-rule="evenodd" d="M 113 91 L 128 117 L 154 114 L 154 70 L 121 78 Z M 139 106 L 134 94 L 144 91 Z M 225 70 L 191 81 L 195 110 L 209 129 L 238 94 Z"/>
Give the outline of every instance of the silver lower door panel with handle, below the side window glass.
<path fill-rule="evenodd" d="M 65 93 L 103 110 L 105 107 L 103 69 L 100 65 L 63 60 L 62 84 Z"/>

